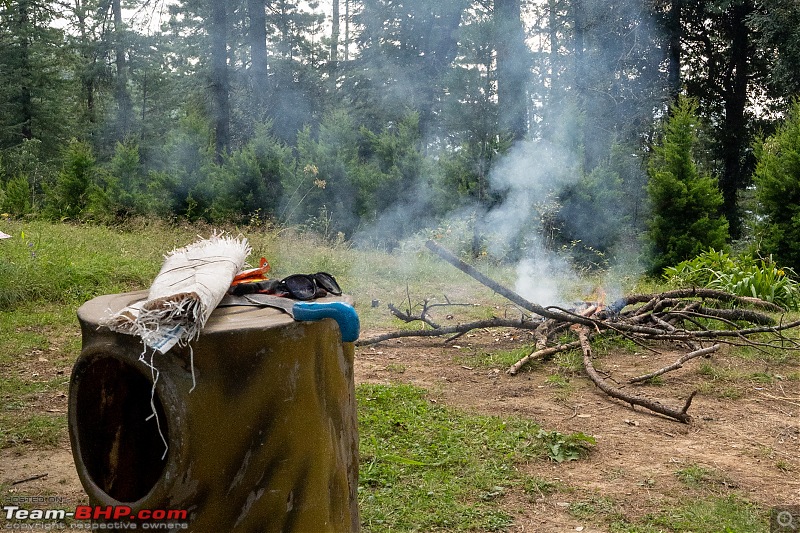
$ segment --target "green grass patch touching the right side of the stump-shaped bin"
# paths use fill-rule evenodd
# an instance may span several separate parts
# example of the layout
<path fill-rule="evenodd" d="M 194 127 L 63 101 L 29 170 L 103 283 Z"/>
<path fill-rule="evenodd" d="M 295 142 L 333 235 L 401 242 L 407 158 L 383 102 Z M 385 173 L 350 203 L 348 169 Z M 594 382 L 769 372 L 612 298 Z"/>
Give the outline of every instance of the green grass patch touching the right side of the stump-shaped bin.
<path fill-rule="evenodd" d="M 547 445 L 530 420 L 466 414 L 429 402 L 410 385 L 360 385 L 359 501 L 364 531 L 497 531 L 512 489 L 553 490 L 516 465 L 543 458 Z"/>

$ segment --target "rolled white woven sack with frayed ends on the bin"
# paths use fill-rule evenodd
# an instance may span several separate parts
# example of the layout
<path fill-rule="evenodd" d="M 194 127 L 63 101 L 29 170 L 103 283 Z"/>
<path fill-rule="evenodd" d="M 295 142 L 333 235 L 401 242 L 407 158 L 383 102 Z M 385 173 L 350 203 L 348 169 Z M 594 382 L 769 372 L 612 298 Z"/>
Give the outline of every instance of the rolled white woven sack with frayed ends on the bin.
<path fill-rule="evenodd" d="M 247 239 L 212 235 L 170 252 L 147 299 L 101 321 L 113 331 L 137 335 L 162 353 L 197 338 L 211 312 L 242 270 Z"/>

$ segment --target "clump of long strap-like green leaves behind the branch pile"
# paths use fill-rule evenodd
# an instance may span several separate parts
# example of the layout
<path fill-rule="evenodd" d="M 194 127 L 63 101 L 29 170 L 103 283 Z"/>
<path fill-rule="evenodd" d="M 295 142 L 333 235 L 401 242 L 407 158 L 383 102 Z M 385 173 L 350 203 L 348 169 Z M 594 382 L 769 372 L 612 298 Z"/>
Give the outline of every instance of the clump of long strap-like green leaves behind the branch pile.
<path fill-rule="evenodd" d="M 731 257 L 713 248 L 694 259 L 664 269 L 664 277 L 680 286 L 719 289 L 739 296 L 774 302 L 786 309 L 800 308 L 800 286 L 790 268 L 773 260 L 751 256 Z"/>

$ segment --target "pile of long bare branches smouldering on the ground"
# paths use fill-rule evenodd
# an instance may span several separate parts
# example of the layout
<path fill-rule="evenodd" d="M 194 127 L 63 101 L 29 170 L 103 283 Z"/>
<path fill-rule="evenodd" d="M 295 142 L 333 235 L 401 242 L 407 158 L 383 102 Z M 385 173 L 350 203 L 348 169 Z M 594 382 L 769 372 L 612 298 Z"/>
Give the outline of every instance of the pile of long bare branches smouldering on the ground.
<path fill-rule="evenodd" d="M 592 359 L 591 340 L 601 334 L 625 337 L 650 350 L 653 341 L 670 341 L 687 346 L 689 351 L 674 363 L 653 372 L 634 377 L 629 383 L 647 382 L 657 376 L 681 368 L 690 359 L 708 356 L 722 344 L 747 345 L 758 350 L 771 348 L 800 349 L 800 343 L 786 337 L 783 332 L 800 326 L 800 321 L 778 322 L 774 315 L 785 310 L 773 303 L 736 296 L 724 291 L 688 288 L 659 294 L 632 294 L 609 305 L 585 303 L 575 309 L 556 306 L 543 307 L 530 302 L 496 281 L 486 277 L 471 265 L 461 261 L 445 248 L 433 241 L 426 246 L 439 257 L 462 272 L 509 299 L 531 315 L 523 314 L 517 319 L 491 318 L 454 326 L 441 326 L 430 317 L 430 310 L 437 306 L 453 305 L 424 302 L 419 315 L 411 310 L 402 311 L 389 304 L 390 311 L 406 322 L 422 321 L 430 328 L 417 331 L 397 331 L 363 339 L 360 346 L 408 336 L 450 336 L 453 341 L 474 329 L 511 327 L 533 332 L 536 346 L 532 353 L 523 357 L 507 369 L 517 374 L 525 365 L 537 359 L 545 359 L 568 350 L 580 349 L 586 375 L 603 392 L 631 406 L 638 405 L 668 418 L 689 423 L 689 407 L 697 391 L 692 392 L 683 406 L 669 407 L 661 402 L 629 394 L 609 384 L 595 369 Z M 559 342 L 564 333 L 571 333 L 574 340 Z M 766 335 L 765 335 L 766 334 Z"/>

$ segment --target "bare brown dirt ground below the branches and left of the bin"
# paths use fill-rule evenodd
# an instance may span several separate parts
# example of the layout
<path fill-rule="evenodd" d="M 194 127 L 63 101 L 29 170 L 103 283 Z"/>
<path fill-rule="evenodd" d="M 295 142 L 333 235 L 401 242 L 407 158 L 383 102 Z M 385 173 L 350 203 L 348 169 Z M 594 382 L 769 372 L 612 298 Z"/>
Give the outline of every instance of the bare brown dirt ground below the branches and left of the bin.
<path fill-rule="evenodd" d="M 369 337 L 376 332 L 366 332 Z M 556 361 L 536 364 L 517 376 L 483 359 L 529 340 L 515 331 L 482 330 L 446 344 L 438 338 L 406 338 L 356 351 L 356 382 L 405 382 L 424 387 L 432 401 L 493 415 L 527 417 L 548 430 L 584 432 L 597 439 L 589 458 L 556 464 L 535 461 L 528 473 L 556 483 L 540 497 L 505 495 L 514 516 L 510 531 L 584 533 L 607 531 L 607 515 L 576 516 L 570 505 L 636 520 L 649 513 L 712 494 L 736 494 L 764 507 L 800 504 L 800 380 L 740 380 L 709 384 L 697 371 L 702 360 L 664 376 L 661 385 L 629 386 L 638 393 L 681 407 L 695 389 L 690 425 L 610 400 L 579 372 L 564 371 Z M 520 337 L 523 338 L 520 338 Z M 673 362 L 678 354 L 658 347 L 660 355 L 611 352 L 596 361 L 598 369 L 624 384 L 629 377 Z M 763 361 L 735 361 L 723 350 L 714 354 L 732 370 L 775 375 L 798 371 L 797 359 L 781 369 Z M 733 361 L 733 362 L 731 362 Z M 739 369 L 742 370 L 742 369 Z M 552 376 L 563 379 L 554 383 Z M 55 403 L 54 403 L 55 402 Z M 63 398 L 42 408 L 65 409 Z M 702 486 L 682 482 L 676 472 L 704 469 Z M 36 479 L 36 476 L 41 476 Z M 69 444 L 56 449 L 25 447 L 0 450 L 4 504 L 25 503 L 31 495 L 53 498 L 54 508 L 86 503 Z"/>

